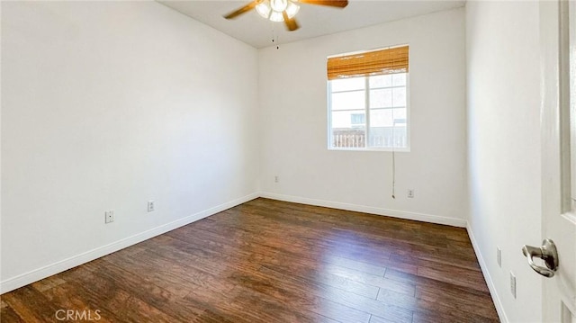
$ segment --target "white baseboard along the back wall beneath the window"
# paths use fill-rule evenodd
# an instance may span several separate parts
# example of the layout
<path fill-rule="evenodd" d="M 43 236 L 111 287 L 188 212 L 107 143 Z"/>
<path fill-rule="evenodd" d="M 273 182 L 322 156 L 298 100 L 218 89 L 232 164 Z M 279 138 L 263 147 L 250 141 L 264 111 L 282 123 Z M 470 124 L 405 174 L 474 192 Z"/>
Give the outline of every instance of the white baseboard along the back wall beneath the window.
<path fill-rule="evenodd" d="M 448 226 L 459 227 L 459 228 L 466 228 L 466 220 L 462 219 L 454 219 L 454 218 L 447 218 L 439 215 L 432 215 L 432 214 L 425 214 L 425 213 L 417 213 L 417 212 L 410 212 L 410 211 L 397 211 L 397 210 L 390 210 L 390 209 L 383 209 L 383 208 L 376 208 L 373 206 L 365 206 L 365 205 L 358 205 L 358 204 L 349 204 L 349 203 L 342 203 L 342 202 L 330 202 L 330 201 L 323 201 L 323 200 L 315 200 L 309 199 L 300 196 L 292 196 L 292 195 L 284 195 L 284 194 L 277 194 L 277 193 L 267 193 L 261 192 L 260 197 L 265 197 L 268 199 L 279 200 L 284 202 L 295 202 L 295 203 L 302 203 L 308 205 L 315 205 L 315 206 L 324 206 L 327 208 L 334 208 L 340 210 L 347 210 L 347 211 L 358 211 L 358 212 L 365 212 L 377 215 L 385 215 L 393 218 L 400 218 L 406 220 L 419 220 L 429 223 L 436 223 L 436 224 L 445 224 Z"/>

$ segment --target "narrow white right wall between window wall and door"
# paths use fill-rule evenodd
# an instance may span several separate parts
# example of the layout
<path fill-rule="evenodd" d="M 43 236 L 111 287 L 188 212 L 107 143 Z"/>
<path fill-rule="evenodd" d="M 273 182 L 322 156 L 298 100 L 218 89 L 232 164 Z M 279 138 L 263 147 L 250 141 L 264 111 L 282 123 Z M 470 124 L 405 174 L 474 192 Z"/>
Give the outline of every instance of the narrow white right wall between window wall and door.
<path fill-rule="evenodd" d="M 469 226 L 500 318 L 510 322 L 542 321 L 541 278 L 520 251 L 541 237 L 538 34 L 536 1 L 466 4 Z"/>

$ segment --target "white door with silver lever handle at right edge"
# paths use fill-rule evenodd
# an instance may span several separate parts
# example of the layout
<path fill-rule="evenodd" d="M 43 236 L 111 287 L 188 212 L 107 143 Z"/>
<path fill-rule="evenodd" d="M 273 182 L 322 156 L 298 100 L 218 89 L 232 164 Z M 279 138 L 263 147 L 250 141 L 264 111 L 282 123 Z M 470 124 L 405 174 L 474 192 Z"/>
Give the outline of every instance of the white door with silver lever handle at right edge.
<path fill-rule="evenodd" d="M 540 1 L 540 47 L 542 238 L 554 241 L 558 252 L 554 276 L 543 278 L 544 320 L 576 323 L 576 3 L 573 0 Z M 535 263 L 545 269 L 536 256 Z"/>

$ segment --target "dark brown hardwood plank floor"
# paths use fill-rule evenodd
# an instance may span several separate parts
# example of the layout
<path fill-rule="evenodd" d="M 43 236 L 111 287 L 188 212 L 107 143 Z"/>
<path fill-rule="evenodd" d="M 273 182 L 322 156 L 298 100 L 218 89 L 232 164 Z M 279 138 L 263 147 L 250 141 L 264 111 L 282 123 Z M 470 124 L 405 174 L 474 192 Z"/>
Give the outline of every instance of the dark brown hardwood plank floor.
<path fill-rule="evenodd" d="M 266 199 L 1 303 L 3 323 L 498 321 L 465 229 Z"/>

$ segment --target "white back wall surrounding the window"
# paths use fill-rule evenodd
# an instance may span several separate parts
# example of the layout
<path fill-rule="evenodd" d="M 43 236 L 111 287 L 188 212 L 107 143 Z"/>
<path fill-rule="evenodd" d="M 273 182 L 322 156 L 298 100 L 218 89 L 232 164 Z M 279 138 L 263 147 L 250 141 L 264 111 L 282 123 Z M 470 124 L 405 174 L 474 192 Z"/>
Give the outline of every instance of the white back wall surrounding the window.
<path fill-rule="evenodd" d="M 464 226 L 464 33 L 458 8 L 260 49 L 264 195 Z M 327 148 L 326 59 L 398 44 L 410 44 L 411 151 L 396 154 L 393 200 L 390 152 Z"/>

